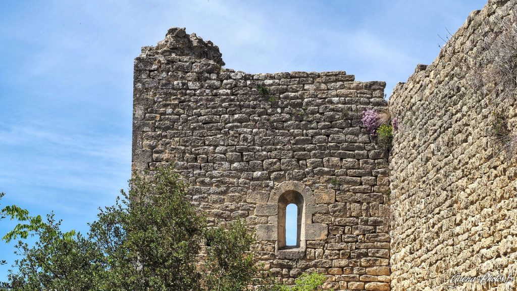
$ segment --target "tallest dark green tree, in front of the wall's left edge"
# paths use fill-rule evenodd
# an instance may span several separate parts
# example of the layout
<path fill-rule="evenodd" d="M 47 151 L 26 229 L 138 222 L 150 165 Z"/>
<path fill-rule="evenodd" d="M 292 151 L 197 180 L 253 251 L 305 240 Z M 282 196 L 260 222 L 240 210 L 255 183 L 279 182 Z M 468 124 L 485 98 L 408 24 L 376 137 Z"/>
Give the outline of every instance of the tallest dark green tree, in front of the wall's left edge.
<path fill-rule="evenodd" d="M 206 219 L 185 199 L 172 168 L 130 180 L 129 193 L 101 210 L 90 237 L 107 256 L 112 290 L 198 290 L 196 256 Z"/>

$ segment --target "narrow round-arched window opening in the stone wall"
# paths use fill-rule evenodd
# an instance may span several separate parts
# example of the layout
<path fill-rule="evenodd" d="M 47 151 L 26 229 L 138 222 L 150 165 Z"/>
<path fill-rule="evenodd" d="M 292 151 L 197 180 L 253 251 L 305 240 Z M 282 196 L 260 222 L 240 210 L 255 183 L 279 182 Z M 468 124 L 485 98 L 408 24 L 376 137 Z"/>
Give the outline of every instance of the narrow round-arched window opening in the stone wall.
<path fill-rule="evenodd" d="M 290 213 L 291 215 L 296 215 L 296 225 L 295 229 L 291 229 L 291 234 L 296 230 L 296 240 L 293 242 L 292 240 L 286 241 L 286 232 L 288 229 L 286 228 L 286 219 L 287 219 L 287 206 L 295 206 L 293 208 L 296 209 L 295 213 Z M 290 207 L 290 208 L 291 208 Z M 302 216 L 303 216 L 303 196 L 294 191 L 286 192 L 282 194 L 278 199 L 278 249 L 292 249 L 292 248 L 300 248 L 301 242 L 301 232 L 302 232 Z M 290 217 L 291 218 L 291 217 Z M 293 219 L 294 220 L 294 219 Z"/>

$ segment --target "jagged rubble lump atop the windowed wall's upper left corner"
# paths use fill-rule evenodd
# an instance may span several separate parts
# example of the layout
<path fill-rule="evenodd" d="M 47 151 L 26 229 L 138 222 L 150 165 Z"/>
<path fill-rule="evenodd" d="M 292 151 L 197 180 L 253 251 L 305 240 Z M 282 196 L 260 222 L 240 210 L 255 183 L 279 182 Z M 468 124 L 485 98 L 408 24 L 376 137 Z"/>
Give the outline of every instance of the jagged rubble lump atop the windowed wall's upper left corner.
<path fill-rule="evenodd" d="M 187 34 L 185 28 L 179 27 L 169 28 L 165 39 L 159 41 L 156 47 L 143 47 L 140 56 L 155 55 L 192 56 L 196 59 L 208 59 L 224 66 L 219 47 L 210 40 L 204 41 L 195 33 Z"/>

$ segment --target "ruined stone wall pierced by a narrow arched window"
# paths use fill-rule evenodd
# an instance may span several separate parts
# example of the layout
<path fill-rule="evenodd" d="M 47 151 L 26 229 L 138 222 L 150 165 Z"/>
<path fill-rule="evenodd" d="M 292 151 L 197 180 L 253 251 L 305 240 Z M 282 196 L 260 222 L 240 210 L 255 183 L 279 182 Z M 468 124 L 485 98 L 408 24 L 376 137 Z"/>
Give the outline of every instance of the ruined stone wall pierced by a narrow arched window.
<path fill-rule="evenodd" d="M 326 288 L 388 290 L 387 158 L 359 120 L 387 106 L 385 83 L 223 64 L 216 46 L 184 29 L 143 48 L 133 170 L 174 162 L 210 223 L 245 219 L 257 230 L 255 255 L 286 283 L 311 269 L 327 275 Z M 282 249 L 289 202 L 300 209 L 300 242 Z"/>

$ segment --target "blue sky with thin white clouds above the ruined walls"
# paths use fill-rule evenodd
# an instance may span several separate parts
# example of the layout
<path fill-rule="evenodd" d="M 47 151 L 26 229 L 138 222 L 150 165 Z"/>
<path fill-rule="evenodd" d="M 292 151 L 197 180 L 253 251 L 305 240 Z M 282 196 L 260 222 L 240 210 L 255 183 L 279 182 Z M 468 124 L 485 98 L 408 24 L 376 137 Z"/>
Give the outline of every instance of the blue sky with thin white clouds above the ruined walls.
<path fill-rule="evenodd" d="M 54 211 L 86 231 L 126 187 L 133 59 L 169 27 L 219 46 L 246 72 L 345 70 L 386 94 L 430 64 L 481 0 L 3 1 L 0 192 L 3 205 Z M 0 223 L 3 235 L 12 224 Z M 12 244 L 0 259 L 12 263 Z M 7 266 L 0 267 L 0 281 Z"/>

